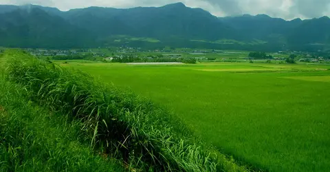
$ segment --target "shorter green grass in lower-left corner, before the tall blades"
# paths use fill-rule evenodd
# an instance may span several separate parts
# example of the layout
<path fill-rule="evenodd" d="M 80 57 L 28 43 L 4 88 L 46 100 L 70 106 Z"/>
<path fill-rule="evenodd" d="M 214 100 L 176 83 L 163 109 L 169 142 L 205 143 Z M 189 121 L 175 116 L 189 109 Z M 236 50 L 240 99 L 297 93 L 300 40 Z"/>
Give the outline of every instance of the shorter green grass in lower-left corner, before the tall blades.
<path fill-rule="evenodd" d="M 28 99 L 0 74 L 0 171 L 124 171 L 81 143 L 80 122 L 69 122 Z"/>

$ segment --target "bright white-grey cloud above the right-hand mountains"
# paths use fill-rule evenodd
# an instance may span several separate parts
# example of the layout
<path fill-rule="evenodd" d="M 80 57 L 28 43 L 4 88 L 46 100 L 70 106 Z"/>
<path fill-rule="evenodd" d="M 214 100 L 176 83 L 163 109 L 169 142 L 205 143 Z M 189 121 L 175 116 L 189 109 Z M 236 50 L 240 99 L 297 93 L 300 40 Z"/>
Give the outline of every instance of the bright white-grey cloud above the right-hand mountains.
<path fill-rule="evenodd" d="M 329 0 L 204 0 L 228 15 L 269 14 L 303 19 L 330 15 Z"/>

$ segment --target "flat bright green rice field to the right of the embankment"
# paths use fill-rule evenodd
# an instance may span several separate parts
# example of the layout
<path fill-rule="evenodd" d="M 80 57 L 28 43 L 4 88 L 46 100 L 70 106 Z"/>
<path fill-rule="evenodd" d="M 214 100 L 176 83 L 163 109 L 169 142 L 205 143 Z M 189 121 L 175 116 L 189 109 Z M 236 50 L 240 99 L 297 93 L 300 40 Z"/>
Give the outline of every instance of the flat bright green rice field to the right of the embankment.
<path fill-rule="evenodd" d="M 204 140 L 254 169 L 330 169 L 330 65 L 61 65 L 173 109 Z"/>

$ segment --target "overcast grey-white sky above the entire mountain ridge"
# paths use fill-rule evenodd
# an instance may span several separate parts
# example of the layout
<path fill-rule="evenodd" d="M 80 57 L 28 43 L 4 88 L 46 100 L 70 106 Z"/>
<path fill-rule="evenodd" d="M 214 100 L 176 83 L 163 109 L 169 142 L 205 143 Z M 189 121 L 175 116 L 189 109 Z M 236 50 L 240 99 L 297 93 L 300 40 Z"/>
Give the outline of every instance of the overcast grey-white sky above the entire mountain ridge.
<path fill-rule="evenodd" d="M 0 0 L 0 4 L 28 3 L 56 7 L 60 10 L 102 6 L 133 8 L 137 6 L 164 6 L 177 0 Z M 268 14 L 284 19 L 330 16 L 330 0 L 181 0 L 186 6 L 203 8 L 223 17 L 240 14 Z"/>

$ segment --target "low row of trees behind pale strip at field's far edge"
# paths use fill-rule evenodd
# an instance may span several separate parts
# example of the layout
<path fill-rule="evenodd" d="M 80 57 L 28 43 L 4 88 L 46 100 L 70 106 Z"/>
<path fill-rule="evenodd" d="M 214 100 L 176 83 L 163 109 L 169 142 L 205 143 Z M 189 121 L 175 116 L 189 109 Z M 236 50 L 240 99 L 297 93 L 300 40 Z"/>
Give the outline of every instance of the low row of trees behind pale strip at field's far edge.
<path fill-rule="evenodd" d="M 151 56 L 151 57 L 133 57 L 133 56 L 122 56 L 113 57 L 114 63 L 153 63 L 153 62 L 178 62 L 178 63 L 190 63 L 195 64 L 197 61 L 195 58 L 170 58 L 164 56 Z"/>

